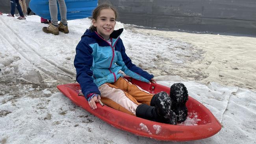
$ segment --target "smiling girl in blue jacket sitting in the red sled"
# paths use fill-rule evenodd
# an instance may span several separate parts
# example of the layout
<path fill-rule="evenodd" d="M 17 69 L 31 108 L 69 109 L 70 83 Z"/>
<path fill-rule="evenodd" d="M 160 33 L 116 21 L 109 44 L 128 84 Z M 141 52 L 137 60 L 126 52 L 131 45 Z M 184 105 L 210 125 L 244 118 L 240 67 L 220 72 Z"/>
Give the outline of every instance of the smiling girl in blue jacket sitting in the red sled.
<path fill-rule="evenodd" d="M 109 107 L 148 120 L 183 122 L 187 117 L 188 94 L 182 83 L 171 86 L 170 96 L 166 92 L 153 96 L 122 78 L 120 70 L 140 81 L 156 83 L 152 74 L 134 65 L 126 55 L 120 38 L 123 29 L 114 30 L 116 17 L 117 11 L 109 4 L 96 7 L 93 25 L 76 46 L 76 81 L 90 107 L 97 109 L 96 103 L 101 100 Z"/>

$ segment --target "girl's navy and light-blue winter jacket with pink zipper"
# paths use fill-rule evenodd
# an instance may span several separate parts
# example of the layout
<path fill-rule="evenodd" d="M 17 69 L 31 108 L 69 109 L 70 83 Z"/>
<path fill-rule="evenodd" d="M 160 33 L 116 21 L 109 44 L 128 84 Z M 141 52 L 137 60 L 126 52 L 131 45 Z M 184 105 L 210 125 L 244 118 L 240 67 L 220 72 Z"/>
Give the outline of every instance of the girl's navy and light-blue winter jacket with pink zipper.
<path fill-rule="evenodd" d="M 154 76 L 134 65 L 126 55 L 120 39 L 123 29 L 115 30 L 110 35 L 112 45 L 96 31 L 86 30 L 76 46 L 74 66 L 76 81 L 80 84 L 85 98 L 91 93 L 98 93 L 98 87 L 104 83 L 113 83 L 126 75 L 140 81 L 149 82 Z"/>

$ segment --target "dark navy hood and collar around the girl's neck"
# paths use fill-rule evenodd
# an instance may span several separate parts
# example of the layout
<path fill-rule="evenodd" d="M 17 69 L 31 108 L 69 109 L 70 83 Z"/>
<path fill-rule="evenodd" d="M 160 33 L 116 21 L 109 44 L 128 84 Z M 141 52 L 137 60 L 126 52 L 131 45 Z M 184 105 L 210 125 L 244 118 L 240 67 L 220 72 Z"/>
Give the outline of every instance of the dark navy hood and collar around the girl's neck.
<path fill-rule="evenodd" d="M 111 33 L 110 37 L 113 38 L 113 39 L 117 39 L 121 35 L 122 31 L 124 31 L 123 28 L 121 28 L 119 30 L 114 30 Z M 85 33 L 83 33 L 81 38 L 83 38 L 83 37 L 93 37 L 97 40 L 102 40 L 103 39 L 102 37 L 99 37 L 99 35 L 97 35 L 96 31 L 92 31 L 92 30 L 89 30 L 89 29 L 87 29 L 85 31 Z"/>

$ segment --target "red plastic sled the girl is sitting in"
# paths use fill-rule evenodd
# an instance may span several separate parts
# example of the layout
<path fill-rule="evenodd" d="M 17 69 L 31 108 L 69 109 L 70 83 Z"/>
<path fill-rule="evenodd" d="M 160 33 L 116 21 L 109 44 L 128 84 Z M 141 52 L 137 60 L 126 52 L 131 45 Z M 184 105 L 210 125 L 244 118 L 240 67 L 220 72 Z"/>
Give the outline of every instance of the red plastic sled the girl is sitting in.
<path fill-rule="evenodd" d="M 152 94 L 160 91 L 169 93 L 170 91 L 169 87 L 163 85 L 154 83 L 149 85 L 148 83 L 130 77 L 125 78 Z M 97 103 L 98 108 L 92 110 L 84 96 L 78 96 L 81 89 L 78 83 L 58 85 L 57 88 L 72 102 L 89 113 L 94 114 L 108 124 L 111 124 L 113 127 L 134 133 L 135 135 L 150 137 L 157 140 L 189 141 L 211 137 L 221 130 L 221 124 L 215 116 L 213 116 L 204 105 L 190 96 L 186 106 L 189 112 L 197 113 L 197 118 L 200 119 L 200 121 L 197 121 L 196 126 L 170 125 L 153 122 L 117 111 L 107 105 L 101 106 L 99 103 Z"/>

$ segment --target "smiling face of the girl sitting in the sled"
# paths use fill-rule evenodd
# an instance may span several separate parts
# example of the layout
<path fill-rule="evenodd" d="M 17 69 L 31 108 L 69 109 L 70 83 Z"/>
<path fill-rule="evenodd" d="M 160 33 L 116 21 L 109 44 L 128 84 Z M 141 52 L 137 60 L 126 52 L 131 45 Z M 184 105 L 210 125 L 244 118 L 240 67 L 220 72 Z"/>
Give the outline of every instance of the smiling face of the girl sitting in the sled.
<path fill-rule="evenodd" d="M 99 17 L 93 19 L 93 26 L 97 28 L 99 35 L 108 40 L 115 28 L 115 12 L 112 9 L 102 9 Z"/>

